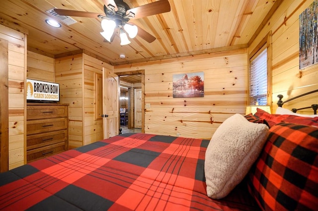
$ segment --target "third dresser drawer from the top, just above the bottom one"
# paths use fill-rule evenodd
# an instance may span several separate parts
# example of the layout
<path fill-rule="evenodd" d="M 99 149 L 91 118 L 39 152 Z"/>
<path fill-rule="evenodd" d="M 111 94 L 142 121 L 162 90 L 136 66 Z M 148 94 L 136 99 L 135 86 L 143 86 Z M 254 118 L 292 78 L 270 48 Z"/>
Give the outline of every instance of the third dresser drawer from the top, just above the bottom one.
<path fill-rule="evenodd" d="M 32 150 L 39 147 L 44 147 L 51 144 L 56 144 L 59 142 L 67 141 L 68 131 L 58 130 L 54 132 L 40 133 L 29 135 L 26 138 L 26 150 Z"/>

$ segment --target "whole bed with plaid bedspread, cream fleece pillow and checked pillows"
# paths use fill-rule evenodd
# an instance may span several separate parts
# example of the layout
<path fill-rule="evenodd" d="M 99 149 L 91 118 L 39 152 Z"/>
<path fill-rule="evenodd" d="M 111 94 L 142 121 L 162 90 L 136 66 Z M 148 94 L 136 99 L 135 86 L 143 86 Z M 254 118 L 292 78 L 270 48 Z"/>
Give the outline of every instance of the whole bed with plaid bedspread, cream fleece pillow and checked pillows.
<path fill-rule="evenodd" d="M 267 121 L 268 115 L 279 118 L 270 116 Z M 230 117 L 218 128 L 211 141 L 127 133 L 25 164 L 0 174 L 0 210 L 314 210 L 318 207 L 318 117 L 296 120 L 291 117 L 290 120 L 284 116 L 282 120 L 283 115 L 294 116 L 266 114 L 261 110 L 245 117 L 235 114 L 234 119 Z M 239 121 L 243 123 L 238 124 Z M 297 121 L 314 123 L 306 127 L 301 124 L 299 128 Z M 245 148 L 239 152 L 233 146 L 240 145 L 242 140 L 233 144 L 231 135 L 238 136 L 241 128 L 233 127 L 241 125 L 248 128 L 242 129 L 247 138 L 250 128 L 256 126 L 264 135 L 258 136 L 256 130 L 257 138 L 244 143 Z M 285 128 L 283 133 L 282 128 Z M 292 132 L 286 132 L 288 129 Z M 232 134 L 233 130 L 237 131 Z M 290 142 L 286 133 L 299 135 L 299 131 L 302 131 L 301 139 L 311 144 L 304 145 L 297 139 L 294 148 L 301 146 L 304 158 L 294 159 L 288 156 L 295 156 L 292 152 L 285 152 L 284 141 Z M 308 133 L 310 137 L 306 136 Z M 264 141 L 258 143 L 260 139 Z M 276 146 L 277 140 L 282 148 Z M 223 145 L 225 142 L 229 145 Z M 256 151 L 246 153 L 247 147 Z M 282 167 L 282 156 L 277 156 L 274 147 L 288 157 L 284 159 L 287 176 L 276 172 Z M 224 149 L 239 154 L 229 161 L 231 155 L 224 153 Z M 274 151 L 276 157 L 272 155 Z M 306 157 L 308 152 L 310 158 Z M 271 164 L 268 164 L 269 157 Z M 294 159 L 296 168 L 304 163 L 306 166 L 295 170 L 288 159 Z M 219 174 L 211 176 L 216 170 Z M 301 171 L 306 171 L 306 175 Z M 238 179 L 237 174 L 241 172 Z M 301 184 L 297 181 L 293 184 L 290 177 L 295 174 L 297 179 L 302 179 Z M 213 181 L 215 177 L 221 178 Z M 220 183 L 229 189 L 215 188 Z"/>

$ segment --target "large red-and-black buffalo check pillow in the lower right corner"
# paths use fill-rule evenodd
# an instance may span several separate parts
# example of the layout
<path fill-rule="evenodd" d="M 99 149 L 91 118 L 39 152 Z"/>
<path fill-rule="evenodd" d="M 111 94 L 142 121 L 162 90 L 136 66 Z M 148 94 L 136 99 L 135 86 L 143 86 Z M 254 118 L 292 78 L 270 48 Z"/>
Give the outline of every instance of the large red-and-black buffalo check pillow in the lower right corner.
<path fill-rule="evenodd" d="M 317 210 L 318 128 L 281 122 L 249 172 L 249 192 L 263 210 Z"/>

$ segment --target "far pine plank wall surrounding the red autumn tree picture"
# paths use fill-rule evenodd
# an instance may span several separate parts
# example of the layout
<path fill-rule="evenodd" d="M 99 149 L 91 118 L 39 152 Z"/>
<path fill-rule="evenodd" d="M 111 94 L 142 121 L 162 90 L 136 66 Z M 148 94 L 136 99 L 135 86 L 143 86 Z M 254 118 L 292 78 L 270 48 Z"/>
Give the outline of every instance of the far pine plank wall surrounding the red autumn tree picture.
<path fill-rule="evenodd" d="M 247 105 L 247 49 L 115 66 L 145 69 L 145 132 L 211 139 L 218 126 Z M 204 72 L 203 98 L 173 98 L 173 74 Z"/>

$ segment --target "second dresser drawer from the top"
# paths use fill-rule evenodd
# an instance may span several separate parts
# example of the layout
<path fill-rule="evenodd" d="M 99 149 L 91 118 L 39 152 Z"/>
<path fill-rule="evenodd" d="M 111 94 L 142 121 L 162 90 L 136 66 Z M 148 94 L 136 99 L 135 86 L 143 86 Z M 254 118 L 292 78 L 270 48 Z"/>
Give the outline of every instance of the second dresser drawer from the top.
<path fill-rule="evenodd" d="M 62 130 L 68 127 L 68 120 L 65 117 L 53 119 L 35 119 L 26 122 L 26 135 Z"/>

